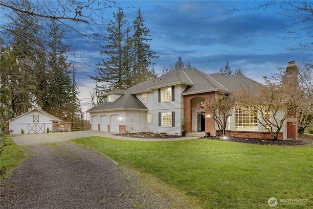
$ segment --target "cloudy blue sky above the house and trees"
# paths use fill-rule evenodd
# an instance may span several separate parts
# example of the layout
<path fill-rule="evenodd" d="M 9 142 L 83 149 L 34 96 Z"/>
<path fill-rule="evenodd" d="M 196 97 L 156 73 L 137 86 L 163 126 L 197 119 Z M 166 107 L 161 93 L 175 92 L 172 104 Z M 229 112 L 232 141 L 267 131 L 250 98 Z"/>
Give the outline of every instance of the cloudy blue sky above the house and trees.
<path fill-rule="evenodd" d="M 264 1 L 263 1 L 264 2 Z M 309 51 L 289 51 L 296 46 L 283 33 L 283 25 L 290 20 L 282 16 L 277 8 L 261 11 L 232 11 L 233 7 L 247 8 L 262 1 L 117 1 L 124 9 L 129 21 L 133 21 L 138 8 L 151 30 L 149 43 L 159 56 L 155 70 L 182 61 L 207 73 L 219 72 L 226 61 L 232 70 L 237 67 L 253 80 L 262 82 L 277 67 L 286 67 L 288 61 L 309 59 Z M 116 8 L 107 10 L 108 18 Z M 104 57 L 87 45 L 77 48 L 83 59 L 90 64 L 77 73 L 80 98 L 86 102 L 89 91 L 95 87 L 92 74 L 94 64 Z"/>

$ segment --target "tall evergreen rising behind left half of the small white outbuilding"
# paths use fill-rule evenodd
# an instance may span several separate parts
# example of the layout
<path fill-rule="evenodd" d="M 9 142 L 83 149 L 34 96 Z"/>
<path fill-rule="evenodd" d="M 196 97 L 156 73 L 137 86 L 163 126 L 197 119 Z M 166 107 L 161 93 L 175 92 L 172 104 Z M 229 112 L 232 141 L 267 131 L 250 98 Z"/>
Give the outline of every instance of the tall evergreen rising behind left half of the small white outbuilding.
<path fill-rule="evenodd" d="M 28 1 L 23 1 L 22 6 L 30 10 Z M 40 29 L 36 26 L 29 25 L 27 21 L 31 21 L 36 25 L 40 20 L 23 13 L 20 13 L 18 16 L 8 15 L 8 18 L 12 24 L 10 24 L 9 30 L 4 31 L 2 34 L 6 37 L 7 43 L 14 49 L 14 55 L 19 58 L 22 72 L 8 71 L 7 73 L 10 79 L 7 80 L 7 85 L 15 89 L 12 92 L 12 110 L 16 115 L 21 115 L 27 112 L 35 102 L 36 73 L 34 66 L 36 64 L 38 48 L 33 47 L 31 43 L 36 40 L 38 45 L 42 45 L 42 39 L 36 36 L 36 34 L 41 34 Z M 14 35 L 12 36 L 10 34 Z"/>

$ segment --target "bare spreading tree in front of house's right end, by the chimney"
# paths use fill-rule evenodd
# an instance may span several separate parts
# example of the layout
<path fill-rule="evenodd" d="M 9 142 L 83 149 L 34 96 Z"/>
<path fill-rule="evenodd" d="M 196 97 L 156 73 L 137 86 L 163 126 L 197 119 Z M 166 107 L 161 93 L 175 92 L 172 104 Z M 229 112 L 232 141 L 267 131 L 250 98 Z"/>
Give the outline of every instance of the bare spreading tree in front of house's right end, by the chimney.
<path fill-rule="evenodd" d="M 258 122 L 274 139 L 278 139 L 284 122 L 297 112 L 301 95 L 297 92 L 291 94 L 290 88 L 282 81 L 274 83 L 264 77 L 264 83 L 257 91 L 242 89 L 237 92 L 238 104 L 254 107 L 258 111 Z"/>

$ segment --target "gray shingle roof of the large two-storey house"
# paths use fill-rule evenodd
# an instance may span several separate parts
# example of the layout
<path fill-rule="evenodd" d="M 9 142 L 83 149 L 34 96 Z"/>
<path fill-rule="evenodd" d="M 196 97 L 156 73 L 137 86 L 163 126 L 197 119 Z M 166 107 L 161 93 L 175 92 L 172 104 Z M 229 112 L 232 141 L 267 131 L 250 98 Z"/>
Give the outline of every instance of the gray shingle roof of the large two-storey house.
<path fill-rule="evenodd" d="M 247 87 L 250 89 L 256 89 L 258 86 L 262 85 L 243 75 L 224 76 L 220 73 L 207 75 L 195 68 L 187 70 L 174 69 L 156 79 L 141 82 L 128 90 L 114 89 L 108 94 L 115 93 L 122 96 L 113 102 L 105 101 L 91 108 L 87 112 L 121 109 L 148 110 L 148 108 L 134 94 L 149 92 L 153 89 L 176 84 L 185 84 L 188 86 L 182 93 L 183 95 L 212 91 L 230 92 Z"/>

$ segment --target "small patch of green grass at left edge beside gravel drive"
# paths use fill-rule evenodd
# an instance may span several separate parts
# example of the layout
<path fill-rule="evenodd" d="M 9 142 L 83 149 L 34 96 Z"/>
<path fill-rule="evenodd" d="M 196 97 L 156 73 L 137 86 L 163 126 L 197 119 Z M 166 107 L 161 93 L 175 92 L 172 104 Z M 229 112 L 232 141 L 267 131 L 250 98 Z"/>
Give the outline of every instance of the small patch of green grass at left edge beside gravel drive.
<path fill-rule="evenodd" d="M 6 174 L 8 174 L 22 162 L 25 155 L 22 149 L 11 138 L 7 138 L 5 141 L 9 145 L 3 147 L 0 164 L 1 168 L 4 166 L 7 168 Z"/>

